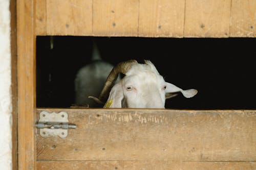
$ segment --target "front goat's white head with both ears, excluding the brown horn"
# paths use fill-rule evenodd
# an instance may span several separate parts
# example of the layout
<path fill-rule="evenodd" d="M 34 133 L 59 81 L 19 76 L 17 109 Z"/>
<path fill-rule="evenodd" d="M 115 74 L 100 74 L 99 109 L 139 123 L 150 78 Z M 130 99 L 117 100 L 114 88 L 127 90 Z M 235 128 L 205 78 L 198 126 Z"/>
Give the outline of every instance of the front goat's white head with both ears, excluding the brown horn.
<path fill-rule="evenodd" d="M 146 60 L 145 64 L 133 65 L 125 77 L 115 84 L 105 107 L 165 108 L 165 94 L 179 91 L 186 98 L 197 94 L 196 89 L 183 90 L 165 82 L 154 64 Z"/>

